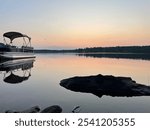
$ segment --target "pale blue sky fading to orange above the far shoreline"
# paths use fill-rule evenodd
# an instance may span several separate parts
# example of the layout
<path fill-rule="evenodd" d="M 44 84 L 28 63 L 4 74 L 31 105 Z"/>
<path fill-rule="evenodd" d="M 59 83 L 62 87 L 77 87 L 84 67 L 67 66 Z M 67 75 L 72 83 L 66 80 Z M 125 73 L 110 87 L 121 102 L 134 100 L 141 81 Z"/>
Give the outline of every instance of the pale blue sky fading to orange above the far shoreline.
<path fill-rule="evenodd" d="M 150 0 L 0 0 L 8 31 L 45 49 L 150 45 Z"/>

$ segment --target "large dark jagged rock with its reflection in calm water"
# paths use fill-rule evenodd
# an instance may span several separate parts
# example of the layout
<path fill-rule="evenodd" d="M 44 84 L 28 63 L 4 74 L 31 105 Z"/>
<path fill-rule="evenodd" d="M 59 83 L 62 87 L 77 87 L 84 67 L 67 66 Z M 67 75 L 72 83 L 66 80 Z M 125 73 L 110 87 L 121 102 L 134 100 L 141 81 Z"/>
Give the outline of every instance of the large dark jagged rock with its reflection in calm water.
<path fill-rule="evenodd" d="M 138 84 L 130 77 L 95 75 L 72 77 L 61 80 L 60 85 L 75 92 L 92 93 L 98 97 L 109 96 L 150 96 L 150 87 Z"/>

